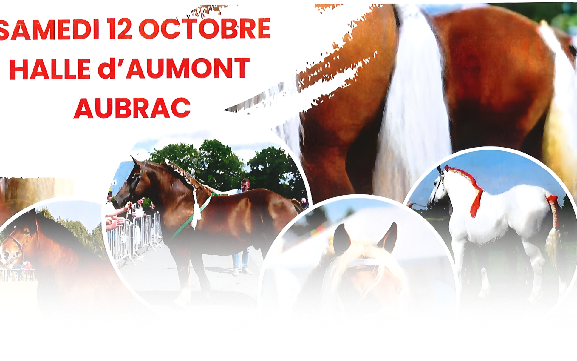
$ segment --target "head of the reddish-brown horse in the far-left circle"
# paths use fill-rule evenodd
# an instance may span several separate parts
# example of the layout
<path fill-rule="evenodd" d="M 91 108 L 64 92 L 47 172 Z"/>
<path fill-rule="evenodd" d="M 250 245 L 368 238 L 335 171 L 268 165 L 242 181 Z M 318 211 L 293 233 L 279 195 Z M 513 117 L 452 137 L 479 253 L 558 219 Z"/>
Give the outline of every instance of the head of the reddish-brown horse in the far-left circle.
<path fill-rule="evenodd" d="M 33 247 L 29 246 L 38 240 L 36 211 L 32 209 L 21 215 L 11 226 L 12 232 L 0 245 L 0 267 L 8 269 L 22 263 L 24 249 L 32 250 Z"/>

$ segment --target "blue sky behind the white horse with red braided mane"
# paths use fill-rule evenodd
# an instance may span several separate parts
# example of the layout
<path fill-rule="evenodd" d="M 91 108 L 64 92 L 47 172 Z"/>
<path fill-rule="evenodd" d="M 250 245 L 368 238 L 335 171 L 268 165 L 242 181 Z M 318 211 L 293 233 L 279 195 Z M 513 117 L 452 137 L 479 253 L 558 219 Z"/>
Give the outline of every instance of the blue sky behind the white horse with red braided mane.
<path fill-rule="evenodd" d="M 445 165 L 469 172 L 475 177 L 479 187 L 490 194 L 506 192 L 519 184 L 537 185 L 558 196 L 559 204 L 563 206 L 566 193 L 555 178 L 537 163 L 518 154 L 501 150 L 479 150 L 449 159 L 441 163 L 441 168 Z M 430 172 L 417 186 L 409 202 L 426 206 L 433 191 L 433 182 L 438 176 L 437 169 Z"/>

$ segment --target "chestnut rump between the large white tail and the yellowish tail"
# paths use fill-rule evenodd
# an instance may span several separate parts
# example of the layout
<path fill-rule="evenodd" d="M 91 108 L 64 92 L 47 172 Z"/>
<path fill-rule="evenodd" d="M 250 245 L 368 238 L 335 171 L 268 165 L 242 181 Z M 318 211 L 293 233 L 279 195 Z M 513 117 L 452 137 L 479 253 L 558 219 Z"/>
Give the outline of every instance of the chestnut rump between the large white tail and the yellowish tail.
<path fill-rule="evenodd" d="M 554 62 L 537 23 L 495 7 L 431 21 L 444 54 L 453 150 L 504 146 L 540 158 L 536 125 L 553 96 Z"/>

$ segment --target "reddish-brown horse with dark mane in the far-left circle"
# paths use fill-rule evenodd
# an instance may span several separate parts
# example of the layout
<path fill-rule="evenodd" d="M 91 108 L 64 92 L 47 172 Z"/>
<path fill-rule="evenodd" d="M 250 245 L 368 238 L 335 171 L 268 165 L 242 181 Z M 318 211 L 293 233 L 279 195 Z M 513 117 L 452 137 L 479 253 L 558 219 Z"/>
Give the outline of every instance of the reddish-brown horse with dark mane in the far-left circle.
<path fill-rule="evenodd" d="M 32 263 L 38 278 L 38 307 L 44 314 L 110 315 L 144 308 L 122 284 L 110 260 L 87 250 L 58 222 L 32 209 L 7 229 L 12 232 L 0 252 Z"/>

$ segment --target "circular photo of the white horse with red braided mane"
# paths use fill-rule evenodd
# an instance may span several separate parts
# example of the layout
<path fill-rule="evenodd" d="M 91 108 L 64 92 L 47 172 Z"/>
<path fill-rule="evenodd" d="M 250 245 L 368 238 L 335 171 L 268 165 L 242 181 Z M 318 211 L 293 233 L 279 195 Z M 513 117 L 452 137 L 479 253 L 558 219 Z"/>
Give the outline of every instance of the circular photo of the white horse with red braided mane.
<path fill-rule="evenodd" d="M 451 250 L 463 315 L 544 315 L 575 282 L 575 202 L 529 155 L 501 147 L 457 152 L 421 176 L 404 204 Z"/>

